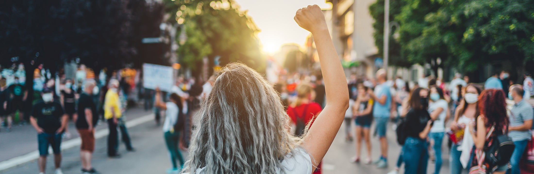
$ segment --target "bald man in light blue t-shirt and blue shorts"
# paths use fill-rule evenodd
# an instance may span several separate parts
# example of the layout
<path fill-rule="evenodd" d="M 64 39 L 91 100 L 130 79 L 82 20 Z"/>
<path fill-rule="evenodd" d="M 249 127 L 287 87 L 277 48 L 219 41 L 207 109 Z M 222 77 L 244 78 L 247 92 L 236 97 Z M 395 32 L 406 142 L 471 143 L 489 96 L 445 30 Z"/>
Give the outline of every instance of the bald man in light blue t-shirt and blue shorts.
<path fill-rule="evenodd" d="M 376 80 L 378 85 L 367 93 L 373 98 L 373 117 L 376 121 L 375 133 L 380 139 L 380 158 L 374 162 L 378 168 L 388 167 L 388 140 L 386 138 L 386 128 L 388 126 L 389 116 L 391 114 L 391 92 L 390 86 L 386 84 L 386 70 L 376 71 Z"/>

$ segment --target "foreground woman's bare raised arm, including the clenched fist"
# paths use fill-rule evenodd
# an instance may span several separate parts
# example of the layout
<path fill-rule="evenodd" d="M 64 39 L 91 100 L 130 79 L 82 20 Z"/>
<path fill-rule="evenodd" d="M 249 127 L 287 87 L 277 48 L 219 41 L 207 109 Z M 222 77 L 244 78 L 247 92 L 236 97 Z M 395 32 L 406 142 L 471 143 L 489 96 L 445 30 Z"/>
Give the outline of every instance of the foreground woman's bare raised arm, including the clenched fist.
<path fill-rule="evenodd" d="M 326 106 L 304 138 L 304 148 L 317 166 L 332 144 L 349 107 L 349 90 L 345 73 L 328 33 L 325 16 L 317 5 L 296 12 L 295 21 L 313 35 L 319 54 L 326 89 Z M 315 170 L 315 167 L 313 167 Z"/>

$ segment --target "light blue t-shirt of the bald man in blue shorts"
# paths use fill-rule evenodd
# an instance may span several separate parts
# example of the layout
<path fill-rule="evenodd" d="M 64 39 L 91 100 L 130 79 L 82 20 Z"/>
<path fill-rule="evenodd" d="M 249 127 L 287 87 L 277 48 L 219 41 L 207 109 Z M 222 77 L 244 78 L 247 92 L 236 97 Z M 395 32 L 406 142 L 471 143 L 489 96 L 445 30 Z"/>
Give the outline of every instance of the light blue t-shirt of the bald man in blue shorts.
<path fill-rule="evenodd" d="M 374 88 L 374 95 L 378 98 L 386 96 L 386 103 L 383 105 L 380 102 L 376 101 L 373 105 L 373 117 L 376 118 L 389 118 L 391 111 L 391 91 L 389 86 L 386 84 L 376 85 Z"/>

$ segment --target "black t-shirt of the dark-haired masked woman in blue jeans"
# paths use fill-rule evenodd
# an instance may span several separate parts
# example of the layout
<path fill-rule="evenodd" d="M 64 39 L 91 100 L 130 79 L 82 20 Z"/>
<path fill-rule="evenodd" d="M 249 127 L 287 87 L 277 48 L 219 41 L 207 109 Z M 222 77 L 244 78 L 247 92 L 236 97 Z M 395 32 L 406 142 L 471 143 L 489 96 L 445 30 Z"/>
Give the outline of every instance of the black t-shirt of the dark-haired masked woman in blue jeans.
<path fill-rule="evenodd" d="M 428 114 L 427 110 L 411 109 L 406 114 L 405 128 L 407 136 L 420 139 L 419 133 L 425 129 L 428 120 L 430 120 L 430 114 Z"/>

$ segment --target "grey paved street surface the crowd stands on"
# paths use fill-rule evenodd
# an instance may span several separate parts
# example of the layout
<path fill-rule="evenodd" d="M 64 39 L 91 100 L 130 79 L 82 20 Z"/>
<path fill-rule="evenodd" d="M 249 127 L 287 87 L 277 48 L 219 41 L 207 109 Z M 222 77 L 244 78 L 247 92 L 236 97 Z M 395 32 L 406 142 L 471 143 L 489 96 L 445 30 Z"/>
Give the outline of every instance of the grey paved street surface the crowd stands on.
<path fill-rule="evenodd" d="M 373 165 L 357 164 L 350 162 L 355 154 L 355 143 L 347 143 L 344 140 L 344 126 L 338 132 L 334 143 L 326 154 L 323 161 L 324 173 L 387 173 L 395 167 L 398 158 L 400 146 L 396 144 L 393 130 L 388 131 L 388 140 L 390 144 L 389 168 L 376 169 Z M 388 128 L 391 128 L 388 127 Z M 166 147 L 163 143 L 161 127 L 156 127 L 153 122 L 143 123 L 129 129 L 133 145 L 137 152 L 125 152 L 124 146 L 121 145 L 120 152 L 123 154 L 121 159 L 109 159 L 106 156 L 106 138 L 97 139 L 95 159 L 93 166 L 102 173 L 165 173 L 170 167 Z M 372 140 L 373 159 L 379 155 L 379 143 L 376 138 Z M 448 148 L 444 146 L 443 167 L 441 173 L 449 173 Z M 63 152 L 64 161 L 62 168 L 64 173 L 80 172 L 81 164 L 79 161 L 79 147 L 70 148 Z M 184 153 L 184 156 L 187 154 Z M 52 156 L 47 165 L 48 173 L 53 171 Z M 366 156 L 362 156 L 366 158 Z M 430 162 L 428 173 L 433 173 L 434 165 Z M 402 170 L 401 170 L 402 172 Z M 18 167 L 1 171 L 5 174 L 31 174 L 37 173 L 36 161 L 28 162 Z"/>

